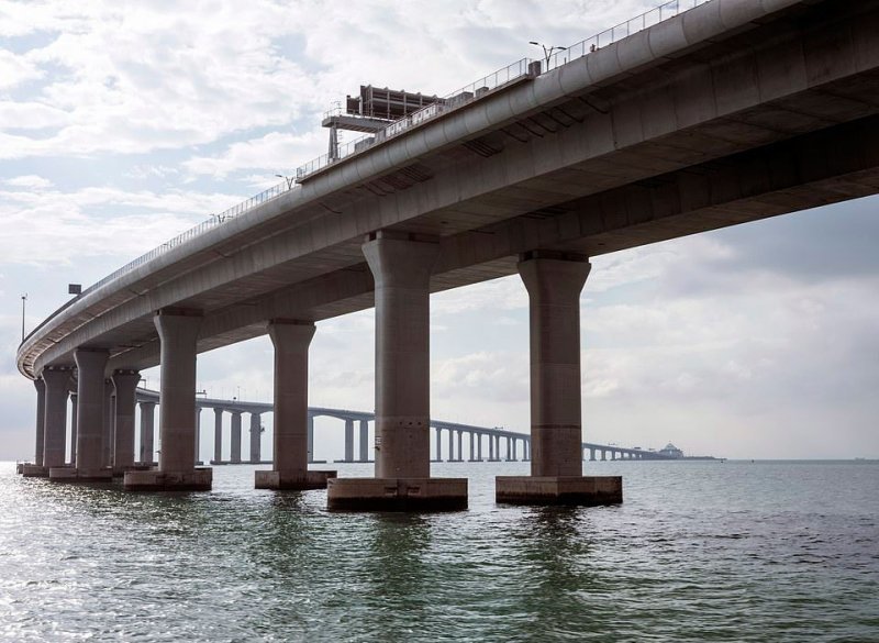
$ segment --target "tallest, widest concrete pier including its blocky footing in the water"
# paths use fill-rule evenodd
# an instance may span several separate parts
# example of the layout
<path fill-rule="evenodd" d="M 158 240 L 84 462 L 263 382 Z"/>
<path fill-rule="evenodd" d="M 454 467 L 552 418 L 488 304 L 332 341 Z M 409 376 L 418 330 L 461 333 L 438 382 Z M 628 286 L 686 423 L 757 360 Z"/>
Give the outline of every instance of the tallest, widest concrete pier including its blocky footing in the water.
<path fill-rule="evenodd" d="M 327 506 L 464 509 L 466 478 L 430 477 L 430 282 L 439 246 L 381 231 L 363 250 L 375 278 L 376 478 L 330 480 Z"/>

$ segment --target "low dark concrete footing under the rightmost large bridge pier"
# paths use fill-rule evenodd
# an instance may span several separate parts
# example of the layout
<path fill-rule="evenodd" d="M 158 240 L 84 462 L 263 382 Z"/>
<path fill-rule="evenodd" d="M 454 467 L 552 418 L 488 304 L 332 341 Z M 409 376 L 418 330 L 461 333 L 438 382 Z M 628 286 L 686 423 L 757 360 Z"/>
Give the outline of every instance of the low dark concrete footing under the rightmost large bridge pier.
<path fill-rule="evenodd" d="M 494 497 L 505 505 L 619 505 L 622 476 L 497 476 Z"/>

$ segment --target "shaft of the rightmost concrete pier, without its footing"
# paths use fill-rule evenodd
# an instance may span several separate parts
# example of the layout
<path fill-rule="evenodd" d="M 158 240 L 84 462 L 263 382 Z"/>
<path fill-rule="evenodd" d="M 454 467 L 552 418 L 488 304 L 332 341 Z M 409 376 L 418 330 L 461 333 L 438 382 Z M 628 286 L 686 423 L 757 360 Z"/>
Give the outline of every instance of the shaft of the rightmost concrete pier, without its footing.
<path fill-rule="evenodd" d="M 528 258 L 532 476 L 581 476 L 580 291 L 587 260 Z"/>

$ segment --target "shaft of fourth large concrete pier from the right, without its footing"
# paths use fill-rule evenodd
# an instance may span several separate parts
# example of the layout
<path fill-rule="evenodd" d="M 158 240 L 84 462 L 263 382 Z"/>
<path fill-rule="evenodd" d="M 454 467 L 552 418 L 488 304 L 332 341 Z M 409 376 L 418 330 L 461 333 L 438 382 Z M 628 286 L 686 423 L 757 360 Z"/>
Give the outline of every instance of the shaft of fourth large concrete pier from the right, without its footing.
<path fill-rule="evenodd" d="M 188 473 L 196 466 L 196 341 L 201 317 L 159 311 L 153 321 L 162 343 L 158 430 L 162 473 Z"/>

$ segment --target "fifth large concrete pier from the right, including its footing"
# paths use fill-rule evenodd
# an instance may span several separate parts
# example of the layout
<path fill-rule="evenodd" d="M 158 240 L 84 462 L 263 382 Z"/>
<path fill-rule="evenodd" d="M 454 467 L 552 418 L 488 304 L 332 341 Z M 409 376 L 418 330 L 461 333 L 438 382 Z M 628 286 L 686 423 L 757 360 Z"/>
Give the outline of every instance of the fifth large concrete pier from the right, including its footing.
<path fill-rule="evenodd" d="M 109 353 L 100 350 L 77 348 L 74 353 L 77 368 L 76 466 L 51 468 L 51 480 L 89 481 L 113 477 L 112 469 L 103 466 L 104 368 L 108 358 Z"/>

